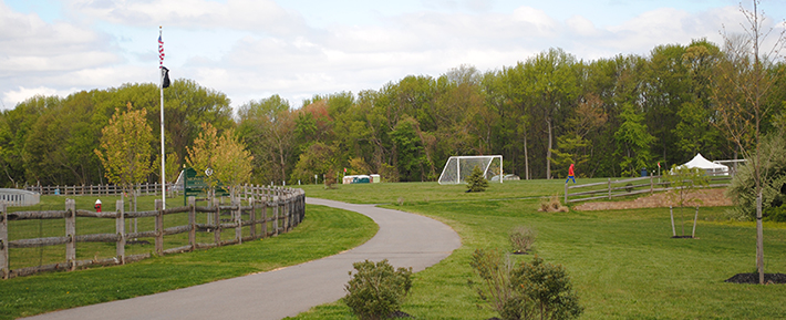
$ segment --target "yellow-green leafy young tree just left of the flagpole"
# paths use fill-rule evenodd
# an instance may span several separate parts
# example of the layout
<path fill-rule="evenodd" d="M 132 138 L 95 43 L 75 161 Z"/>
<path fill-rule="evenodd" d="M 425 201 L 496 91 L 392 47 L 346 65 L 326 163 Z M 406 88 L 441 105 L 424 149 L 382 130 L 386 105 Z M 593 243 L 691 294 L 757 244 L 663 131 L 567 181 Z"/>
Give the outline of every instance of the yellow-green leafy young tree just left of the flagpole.
<path fill-rule="evenodd" d="M 127 106 L 126 112 L 115 111 L 110 124 L 101 131 L 101 147 L 94 149 L 106 178 L 126 193 L 155 169 L 153 130 L 147 125 L 147 112 L 132 110 L 131 103 Z"/>

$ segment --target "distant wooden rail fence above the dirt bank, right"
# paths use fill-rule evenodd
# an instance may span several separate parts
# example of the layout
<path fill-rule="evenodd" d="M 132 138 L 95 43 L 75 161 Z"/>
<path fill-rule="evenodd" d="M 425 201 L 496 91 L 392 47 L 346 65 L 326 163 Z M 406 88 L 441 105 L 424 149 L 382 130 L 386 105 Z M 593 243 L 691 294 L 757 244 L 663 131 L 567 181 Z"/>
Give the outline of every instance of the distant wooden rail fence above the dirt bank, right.
<path fill-rule="evenodd" d="M 565 204 L 576 202 L 588 202 L 596 199 L 611 199 L 614 197 L 624 197 L 640 194 L 653 194 L 656 192 L 665 192 L 674 189 L 665 180 L 661 180 L 662 176 L 648 176 L 627 179 L 609 178 L 602 183 L 591 183 L 583 185 L 565 184 Z M 731 176 L 713 176 L 706 187 L 727 187 L 732 180 Z M 573 192 L 571 189 L 588 189 L 585 192 Z"/>

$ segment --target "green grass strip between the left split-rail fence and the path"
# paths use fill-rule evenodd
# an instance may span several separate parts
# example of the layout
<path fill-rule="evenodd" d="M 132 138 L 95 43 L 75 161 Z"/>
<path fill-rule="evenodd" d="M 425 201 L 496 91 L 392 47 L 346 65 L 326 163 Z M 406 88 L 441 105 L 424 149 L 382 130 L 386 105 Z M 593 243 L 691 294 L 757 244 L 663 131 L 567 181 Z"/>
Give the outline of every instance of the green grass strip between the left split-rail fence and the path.
<path fill-rule="evenodd" d="M 63 206 L 61 200 L 64 198 L 52 199 L 55 206 Z M 80 203 L 92 207 L 92 202 L 94 199 L 77 198 L 77 208 L 82 208 Z M 152 206 L 152 200 L 144 206 Z M 143 202 L 139 209 L 144 209 Z M 273 238 L 155 257 L 125 266 L 0 280 L 0 319 L 127 299 L 292 266 L 356 247 L 378 230 L 370 218 L 355 213 L 312 205 L 307 205 L 306 213 L 301 225 Z M 111 247 L 113 251 L 114 245 Z M 62 259 L 64 250 L 59 255 Z"/>

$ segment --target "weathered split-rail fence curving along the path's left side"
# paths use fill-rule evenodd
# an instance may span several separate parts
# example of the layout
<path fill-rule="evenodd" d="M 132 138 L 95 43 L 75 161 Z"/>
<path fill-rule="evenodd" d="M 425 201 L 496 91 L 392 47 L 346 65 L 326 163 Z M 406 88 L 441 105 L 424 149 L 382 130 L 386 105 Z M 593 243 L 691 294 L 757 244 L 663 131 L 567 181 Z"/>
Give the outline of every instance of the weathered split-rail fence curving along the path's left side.
<path fill-rule="evenodd" d="M 123 202 L 117 200 L 116 211 L 96 213 L 76 209 L 75 200 L 66 199 L 64 210 L 9 213 L 8 207 L 0 203 L 0 273 L 3 279 L 8 279 L 41 271 L 71 271 L 92 265 L 124 265 L 151 256 L 149 252 L 127 256 L 125 249 L 128 239 L 155 238 L 155 254 L 163 256 L 277 236 L 280 233 L 291 230 L 303 220 L 306 216 L 306 193 L 302 189 L 260 187 L 252 190 L 258 193 L 244 195 L 247 205 L 241 205 L 238 197 L 229 206 L 219 205 L 217 199 L 214 200 L 211 206 L 197 206 L 196 199 L 189 197 L 186 206 L 163 209 L 161 199 L 156 199 L 156 209 L 152 211 L 125 211 Z M 188 214 L 187 225 L 164 228 L 165 216 L 183 213 Z M 207 213 L 210 221 L 198 224 L 196 219 L 197 213 Z M 223 215 L 231 216 L 231 219 L 221 219 Z M 242 219 L 244 216 L 248 218 Z M 76 217 L 114 219 L 115 233 L 80 235 L 76 233 Z M 155 228 L 148 231 L 131 233 L 131 228 L 127 227 L 128 219 L 143 217 L 154 217 Z M 9 240 L 9 221 L 30 219 L 65 219 L 65 234 L 60 237 Z M 268 228 L 268 225 L 271 227 Z M 257 233 L 258 226 L 261 227 L 259 228 L 261 229 L 260 233 Z M 244 236 L 244 227 L 249 227 L 248 230 L 250 231 L 247 236 Z M 230 240 L 221 240 L 221 233 L 232 229 L 235 230 L 235 237 Z M 213 242 L 197 242 L 197 231 L 213 233 Z M 164 249 L 164 236 L 185 233 L 188 233 L 188 245 Z M 77 260 L 76 246 L 79 242 L 115 242 L 116 255 L 105 259 Z M 9 251 L 12 249 L 56 245 L 65 245 L 65 257 L 62 262 L 13 270 L 9 268 Z"/>

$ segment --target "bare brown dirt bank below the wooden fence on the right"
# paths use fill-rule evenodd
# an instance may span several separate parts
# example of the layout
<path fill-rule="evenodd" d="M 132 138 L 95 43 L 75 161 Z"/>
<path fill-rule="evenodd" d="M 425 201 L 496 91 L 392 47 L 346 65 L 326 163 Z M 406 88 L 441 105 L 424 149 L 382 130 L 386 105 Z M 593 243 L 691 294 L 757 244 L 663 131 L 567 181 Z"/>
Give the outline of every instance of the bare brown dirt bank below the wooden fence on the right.
<path fill-rule="evenodd" d="M 702 200 L 699 204 L 702 207 L 718 207 L 731 206 L 732 200 L 724 195 L 725 188 L 705 189 L 692 193 L 690 197 L 695 197 Z M 686 204 L 693 206 L 695 204 Z M 638 198 L 632 202 L 600 202 L 600 203 L 583 203 L 575 206 L 573 209 L 580 211 L 591 210 L 619 210 L 619 209 L 638 209 L 638 208 L 662 208 L 669 207 L 668 193 L 659 193 L 651 196 Z"/>

